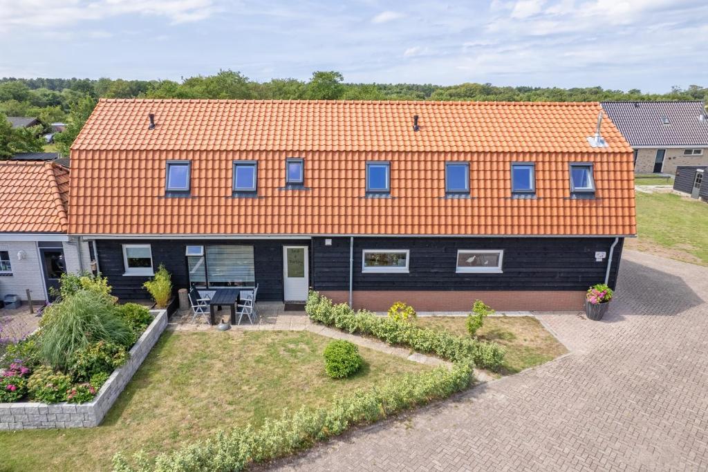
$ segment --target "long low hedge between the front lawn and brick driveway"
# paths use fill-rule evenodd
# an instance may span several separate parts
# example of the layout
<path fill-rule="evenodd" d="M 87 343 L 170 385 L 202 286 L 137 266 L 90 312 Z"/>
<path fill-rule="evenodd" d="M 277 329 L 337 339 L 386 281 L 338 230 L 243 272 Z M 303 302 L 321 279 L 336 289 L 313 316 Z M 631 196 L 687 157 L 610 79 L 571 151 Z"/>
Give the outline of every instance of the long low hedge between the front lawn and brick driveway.
<path fill-rule="evenodd" d="M 257 430 L 248 426 L 219 432 L 214 438 L 160 454 L 154 460 L 143 453 L 130 459 L 116 454 L 113 467 L 118 472 L 241 471 L 253 462 L 270 461 L 311 447 L 353 425 L 447 398 L 467 388 L 471 381 L 472 368 L 462 362 L 452 369 L 438 367 L 421 374 L 405 374 L 379 387 L 335 397 L 324 408 L 303 407 L 294 415 L 285 412 L 278 420 L 266 420 Z"/>

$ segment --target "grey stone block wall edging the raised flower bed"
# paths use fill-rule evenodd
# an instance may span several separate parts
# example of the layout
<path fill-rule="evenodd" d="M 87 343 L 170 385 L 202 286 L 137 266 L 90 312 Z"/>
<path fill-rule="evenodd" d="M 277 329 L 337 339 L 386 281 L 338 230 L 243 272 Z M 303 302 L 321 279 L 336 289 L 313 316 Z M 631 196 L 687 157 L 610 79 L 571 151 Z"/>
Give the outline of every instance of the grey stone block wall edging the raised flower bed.
<path fill-rule="evenodd" d="M 89 403 L 0 403 L 0 431 L 95 427 L 149 354 L 167 326 L 166 310 L 151 310 L 155 319 L 130 349 L 130 359 L 110 374 Z"/>

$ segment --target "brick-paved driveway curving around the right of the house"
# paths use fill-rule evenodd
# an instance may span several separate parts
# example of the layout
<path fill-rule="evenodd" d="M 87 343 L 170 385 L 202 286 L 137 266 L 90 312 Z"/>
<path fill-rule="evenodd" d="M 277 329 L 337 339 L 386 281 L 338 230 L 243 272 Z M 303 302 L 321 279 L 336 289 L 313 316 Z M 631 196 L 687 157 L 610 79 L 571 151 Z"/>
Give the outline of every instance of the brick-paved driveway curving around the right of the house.
<path fill-rule="evenodd" d="M 602 322 L 539 316 L 571 354 L 283 469 L 708 470 L 708 268 L 625 251 Z"/>

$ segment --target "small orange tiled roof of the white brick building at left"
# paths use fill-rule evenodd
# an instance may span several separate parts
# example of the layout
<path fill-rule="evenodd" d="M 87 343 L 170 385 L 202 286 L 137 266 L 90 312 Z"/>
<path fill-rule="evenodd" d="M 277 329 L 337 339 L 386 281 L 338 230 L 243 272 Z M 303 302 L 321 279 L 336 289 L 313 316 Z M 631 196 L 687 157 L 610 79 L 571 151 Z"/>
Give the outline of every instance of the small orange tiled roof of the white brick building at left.
<path fill-rule="evenodd" d="M 0 233 L 65 233 L 69 171 L 51 162 L 0 162 Z"/>

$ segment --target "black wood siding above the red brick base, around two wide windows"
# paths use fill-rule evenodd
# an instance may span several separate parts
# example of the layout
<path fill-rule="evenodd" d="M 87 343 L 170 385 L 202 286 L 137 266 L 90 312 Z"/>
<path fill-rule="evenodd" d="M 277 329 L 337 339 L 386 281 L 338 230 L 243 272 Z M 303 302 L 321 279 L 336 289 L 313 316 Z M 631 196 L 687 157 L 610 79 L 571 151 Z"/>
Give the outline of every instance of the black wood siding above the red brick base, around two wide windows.
<path fill-rule="evenodd" d="M 349 238 L 313 238 L 317 290 L 349 289 Z M 354 290 L 586 290 L 604 282 L 615 238 L 354 238 Z M 624 240 L 615 246 L 615 287 Z M 409 249 L 408 274 L 364 274 L 363 249 Z M 457 274 L 457 249 L 503 249 L 502 274 Z"/>

